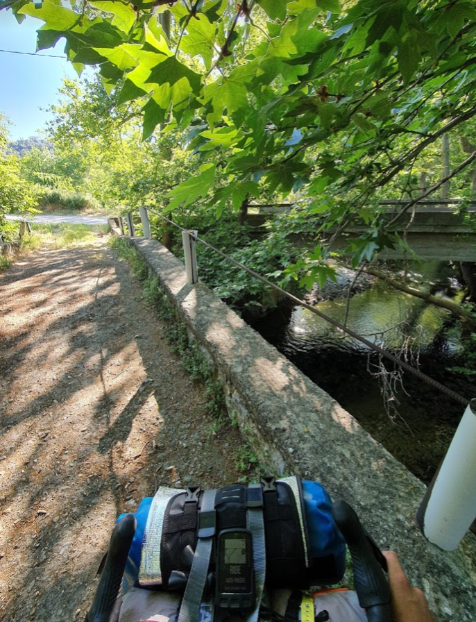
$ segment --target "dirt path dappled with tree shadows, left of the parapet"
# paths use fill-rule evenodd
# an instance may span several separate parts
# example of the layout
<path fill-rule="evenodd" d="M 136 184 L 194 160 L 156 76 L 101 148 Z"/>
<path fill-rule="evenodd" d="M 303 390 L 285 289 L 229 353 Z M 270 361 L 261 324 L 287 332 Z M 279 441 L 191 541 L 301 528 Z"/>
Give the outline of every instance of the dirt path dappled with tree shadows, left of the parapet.
<path fill-rule="evenodd" d="M 0 275 L 0 620 L 82 620 L 119 512 L 241 475 L 164 330 L 105 239 Z"/>

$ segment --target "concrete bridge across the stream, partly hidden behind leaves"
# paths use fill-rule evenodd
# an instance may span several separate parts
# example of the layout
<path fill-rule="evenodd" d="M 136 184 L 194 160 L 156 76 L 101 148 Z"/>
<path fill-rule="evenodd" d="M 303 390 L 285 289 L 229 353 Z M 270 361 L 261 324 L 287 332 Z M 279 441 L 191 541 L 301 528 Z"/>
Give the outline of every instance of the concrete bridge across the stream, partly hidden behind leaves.
<path fill-rule="evenodd" d="M 406 205 L 406 201 L 380 201 L 384 218 L 391 221 Z M 446 261 L 476 262 L 476 203 L 461 210 L 457 199 L 424 199 L 414 208 L 403 214 L 392 230 L 405 239 L 410 249 L 420 258 Z M 253 207 L 253 205 L 250 205 Z M 264 224 L 270 215 L 287 212 L 292 205 L 260 205 L 257 213 L 248 214 L 248 222 L 257 227 Z M 358 237 L 368 227 L 363 222 L 350 223 L 344 233 L 334 235 L 335 231 L 323 232 L 321 239 L 330 241 L 330 249 L 345 249 L 352 237 Z M 309 247 L 318 242 L 316 235 L 295 235 L 297 246 Z M 382 259 L 403 259 L 408 257 L 402 249 L 384 249 Z"/>

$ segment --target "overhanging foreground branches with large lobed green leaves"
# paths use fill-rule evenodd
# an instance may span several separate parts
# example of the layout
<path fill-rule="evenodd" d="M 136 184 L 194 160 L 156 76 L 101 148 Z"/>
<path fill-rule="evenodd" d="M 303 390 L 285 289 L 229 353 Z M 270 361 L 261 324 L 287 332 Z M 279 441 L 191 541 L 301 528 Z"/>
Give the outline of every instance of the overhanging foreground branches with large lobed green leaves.
<path fill-rule="evenodd" d="M 366 221 L 356 261 L 396 243 L 369 201 L 397 181 L 409 194 L 418 156 L 476 115 L 472 0 L 3 4 L 44 22 L 38 49 L 65 37 L 78 72 L 99 67 L 144 138 L 189 131 L 201 169 L 173 207 L 294 193 L 318 230 Z"/>

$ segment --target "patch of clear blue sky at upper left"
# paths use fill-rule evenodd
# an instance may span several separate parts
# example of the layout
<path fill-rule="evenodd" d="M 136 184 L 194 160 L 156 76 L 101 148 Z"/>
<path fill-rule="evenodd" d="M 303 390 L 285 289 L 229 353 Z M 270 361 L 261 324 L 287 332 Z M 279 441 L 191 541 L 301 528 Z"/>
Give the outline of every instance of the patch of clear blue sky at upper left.
<path fill-rule="evenodd" d="M 1 3 L 1 2 L 0 2 Z M 0 11 L 0 49 L 35 52 L 36 31 L 43 22 L 27 17 L 19 25 L 8 10 Z M 41 54 L 62 54 L 64 40 Z M 57 99 L 65 76 L 77 77 L 67 60 L 0 52 L 0 110 L 12 121 L 13 140 L 35 135 L 44 125 L 46 108 Z"/>

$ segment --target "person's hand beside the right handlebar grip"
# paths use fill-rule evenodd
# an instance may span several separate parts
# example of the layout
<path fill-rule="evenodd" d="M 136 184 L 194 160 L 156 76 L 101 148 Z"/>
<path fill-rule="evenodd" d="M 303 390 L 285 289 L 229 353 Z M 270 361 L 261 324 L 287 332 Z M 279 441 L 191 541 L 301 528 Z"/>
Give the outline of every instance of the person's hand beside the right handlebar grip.
<path fill-rule="evenodd" d="M 393 622 L 436 622 L 423 591 L 413 587 L 393 550 L 384 550 L 389 566 Z"/>

